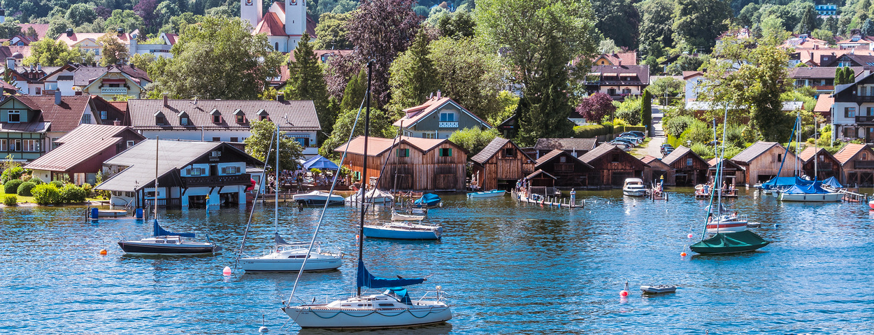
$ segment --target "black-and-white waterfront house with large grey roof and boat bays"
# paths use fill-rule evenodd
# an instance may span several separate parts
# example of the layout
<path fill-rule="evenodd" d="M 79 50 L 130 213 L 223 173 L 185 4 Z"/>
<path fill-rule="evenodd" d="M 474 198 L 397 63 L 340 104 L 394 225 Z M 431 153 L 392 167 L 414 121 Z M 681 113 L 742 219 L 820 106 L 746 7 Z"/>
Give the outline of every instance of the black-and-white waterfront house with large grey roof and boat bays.
<path fill-rule="evenodd" d="M 246 166 L 263 164 L 229 143 L 149 139 L 103 162 L 112 177 L 94 189 L 112 192 L 113 206 L 236 206 L 253 186 Z"/>

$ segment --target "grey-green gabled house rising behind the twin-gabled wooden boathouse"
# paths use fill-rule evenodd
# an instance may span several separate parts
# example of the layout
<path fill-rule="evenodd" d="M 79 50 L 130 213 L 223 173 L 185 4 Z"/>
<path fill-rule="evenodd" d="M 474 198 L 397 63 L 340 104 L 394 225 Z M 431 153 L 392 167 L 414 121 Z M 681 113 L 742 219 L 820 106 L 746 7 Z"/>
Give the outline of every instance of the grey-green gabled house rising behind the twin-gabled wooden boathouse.
<path fill-rule="evenodd" d="M 421 105 L 404 109 L 404 117 L 392 125 L 404 129 L 404 136 L 439 139 L 449 138 L 455 130 L 492 128 L 489 122 L 442 96 L 440 91 Z"/>

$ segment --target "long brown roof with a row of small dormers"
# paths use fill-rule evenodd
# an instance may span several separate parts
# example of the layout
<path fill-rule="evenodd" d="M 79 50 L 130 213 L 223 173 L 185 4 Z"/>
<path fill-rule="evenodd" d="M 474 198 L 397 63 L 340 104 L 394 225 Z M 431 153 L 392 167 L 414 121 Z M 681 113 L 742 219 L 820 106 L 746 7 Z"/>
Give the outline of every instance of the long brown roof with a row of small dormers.
<path fill-rule="evenodd" d="M 212 122 L 212 111 L 221 114 L 222 122 Z M 237 123 L 235 113 L 243 112 L 246 122 Z M 270 120 L 279 123 L 283 131 L 321 130 L 313 101 L 274 101 L 274 100 L 179 100 L 163 99 L 128 100 L 130 124 L 134 129 L 249 129 L 250 122 L 260 120 L 261 111 Z M 166 125 L 157 125 L 155 114 L 163 113 Z M 188 115 L 189 125 L 179 124 L 179 115 Z M 288 116 L 288 121 L 283 119 Z"/>

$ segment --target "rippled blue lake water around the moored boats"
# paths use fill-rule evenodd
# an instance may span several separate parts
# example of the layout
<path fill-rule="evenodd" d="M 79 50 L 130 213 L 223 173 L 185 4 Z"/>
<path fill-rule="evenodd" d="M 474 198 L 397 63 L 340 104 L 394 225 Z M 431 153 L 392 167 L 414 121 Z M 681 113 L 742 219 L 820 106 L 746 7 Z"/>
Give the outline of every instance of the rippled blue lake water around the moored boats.
<path fill-rule="evenodd" d="M 503 199 L 441 195 L 429 220 L 442 241 L 364 244 L 376 276 L 430 276 L 449 295 L 454 318 L 413 332 L 794 334 L 874 332 L 874 212 L 860 204 L 780 203 L 741 190 L 726 201 L 762 227 L 771 245 L 737 255 L 680 253 L 700 239 L 704 200 L 690 189 L 669 202 L 578 192 L 585 208 L 557 209 Z M 246 207 L 161 211 L 171 231 L 208 232 L 227 250 L 215 256 L 130 256 L 115 244 L 150 225 L 85 222 L 84 207 L 5 208 L 0 221 L 0 332 L 297 333 L 280 311 L 295 274 L 222 276 L 246 226 Z M 283 207 L 280 233 L 309 239 L 316 209 Z M 381 214 L 387 218 L 387 213 Z M 255 207 L 252 254 L 269 246 L 273 207 Z M 355 281 L 354 208 L 329 208 L 320 241 L 348 256 L 337 271 L 305 273 L 298 297 L 333 300 Z M 689 239 L 687 234 L 694 234 Z M 108 255 L 98 251 L 107 248 Z M 628 281 L 628 299 L 619 292 Z M 643 284 L 677 284 L 643 297 Z M 290 323 L 289 323 L 290 324 Z M 327 334 L 335 332 L 313 331 Z M 343 332 L 349 333 L 349 332 Z M 410 330 L 363 332 L 412 333 Z"/>

